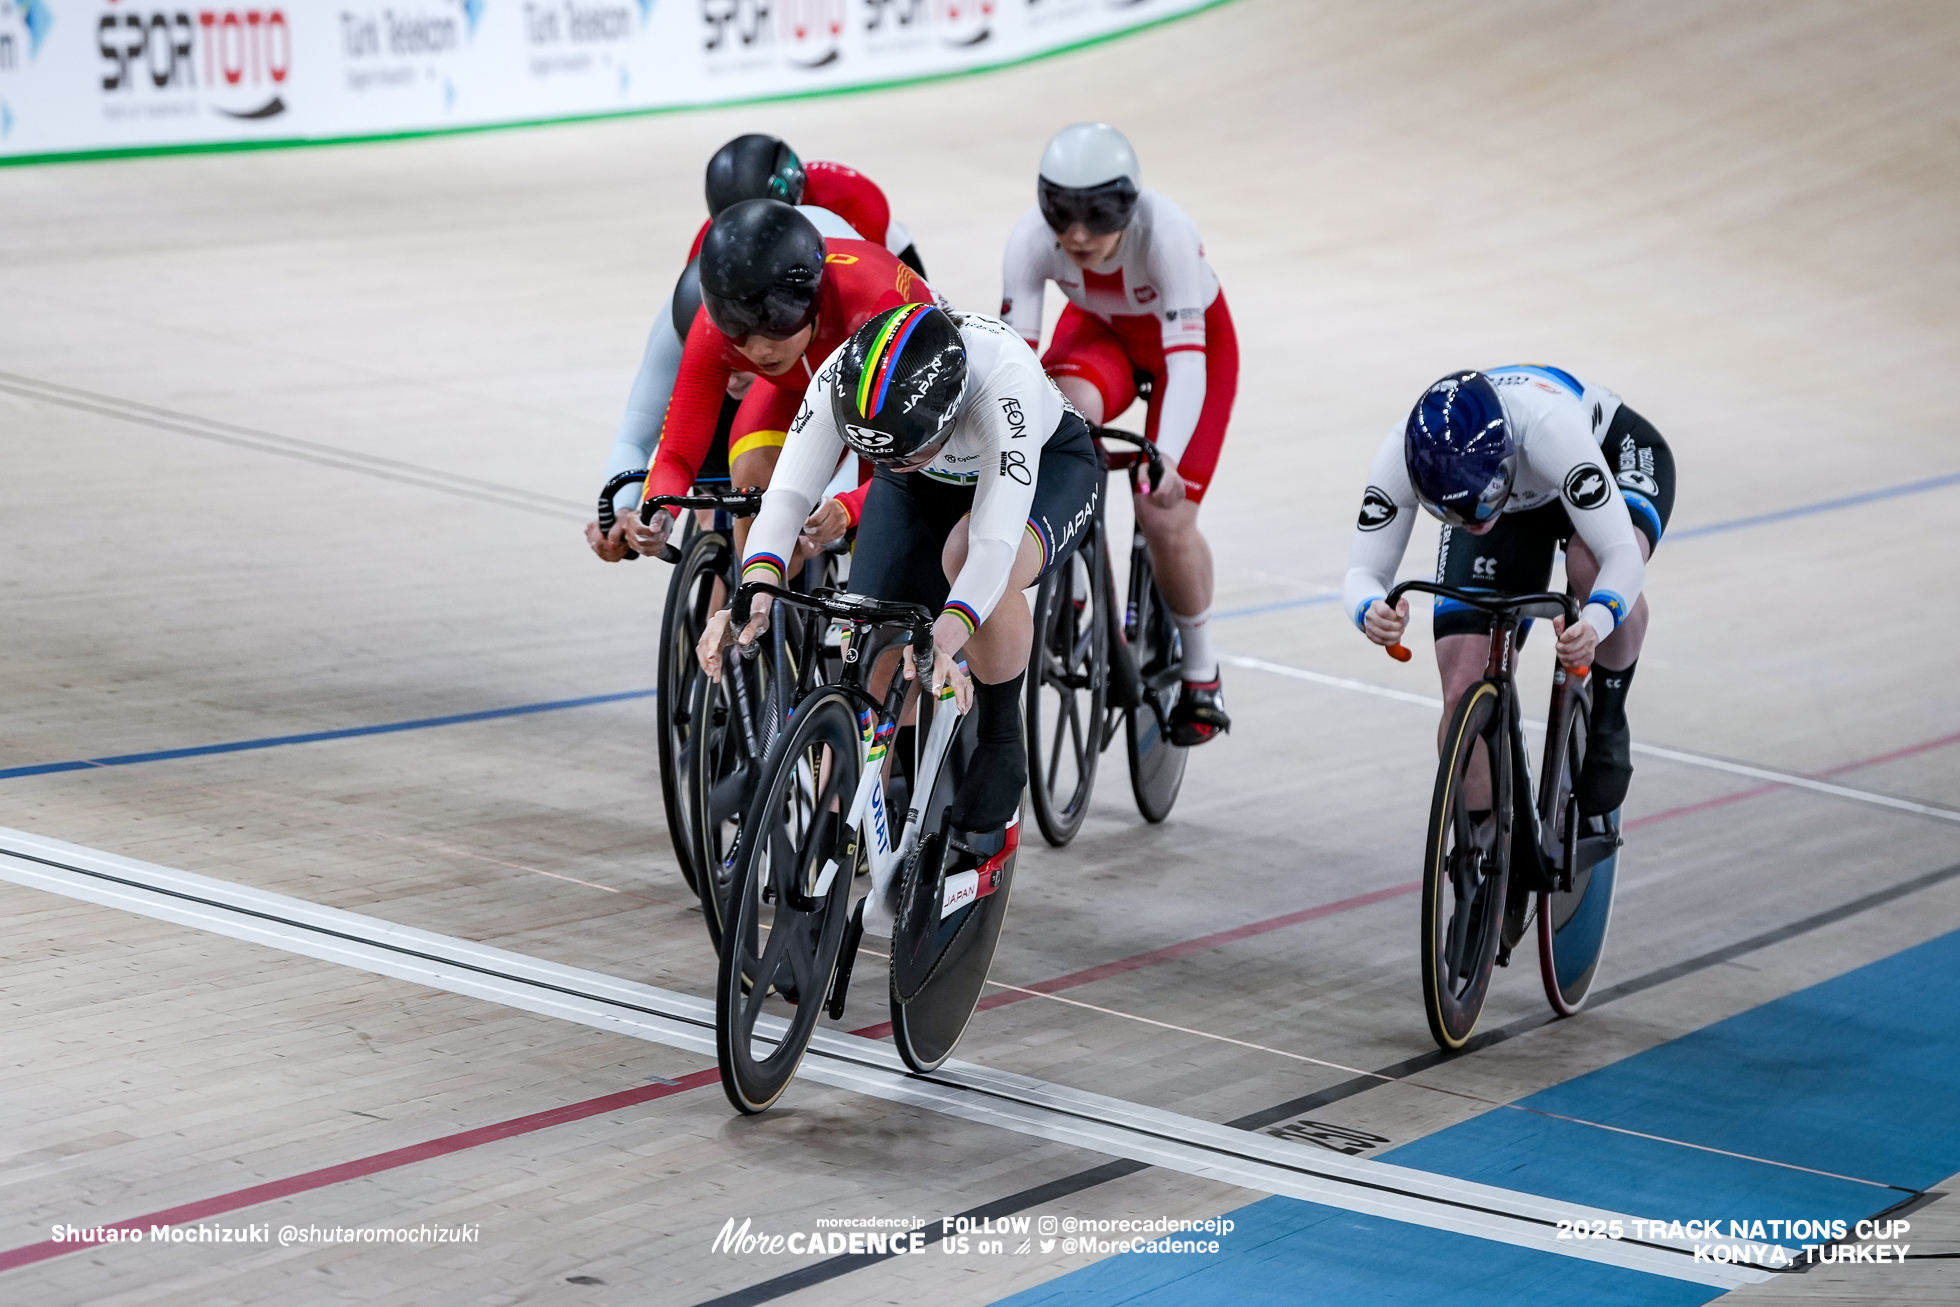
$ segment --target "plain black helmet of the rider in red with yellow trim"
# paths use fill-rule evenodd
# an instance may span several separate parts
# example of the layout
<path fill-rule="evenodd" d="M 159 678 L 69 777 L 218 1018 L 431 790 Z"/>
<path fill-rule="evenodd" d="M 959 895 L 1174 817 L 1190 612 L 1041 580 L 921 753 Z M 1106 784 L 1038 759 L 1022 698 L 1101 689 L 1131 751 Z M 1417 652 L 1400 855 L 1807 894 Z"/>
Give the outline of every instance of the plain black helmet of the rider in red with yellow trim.
<path fill-rule="evenodd" d="M 731 341 L 784 341 L 817 315 L 823 237 L 782 200 L 731 204 L 702 237 L 702 304 Z"/>

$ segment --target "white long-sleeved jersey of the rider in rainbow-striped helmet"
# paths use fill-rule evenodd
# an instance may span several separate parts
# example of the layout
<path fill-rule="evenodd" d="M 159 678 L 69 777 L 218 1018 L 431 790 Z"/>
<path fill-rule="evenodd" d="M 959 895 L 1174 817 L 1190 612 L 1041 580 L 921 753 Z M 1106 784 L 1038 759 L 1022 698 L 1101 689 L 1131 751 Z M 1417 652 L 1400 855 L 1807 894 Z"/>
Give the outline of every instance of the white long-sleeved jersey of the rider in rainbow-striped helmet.
<path fill-rule="evenodd" d="M 1007 323 L 982 314 L 953 314 L 953 321 L 966 345 L 966 394 L 953 435 L 919 476 L 974 488 L 974 508 L 966 521 L 966 564 L 953 578 L 947 607 L 964 609 L 978 627 L 1000 604 L 1013 576 L 1041 476 L 1041 449 L 1072 410 L 1041 370 L 1035 351 Z M 790 423 L 776 472 L 762 494 L 762 511 L 743 553 L 743 576 L 749 580 L 768 570 L 776 578 L 784 574 L 796 535 L 845 451 L 831 413 L 831 378 L 837 376 L 847 347 L 849 343 L 841 345 L 817 368 L 804 392 L 804 406 Z"/>

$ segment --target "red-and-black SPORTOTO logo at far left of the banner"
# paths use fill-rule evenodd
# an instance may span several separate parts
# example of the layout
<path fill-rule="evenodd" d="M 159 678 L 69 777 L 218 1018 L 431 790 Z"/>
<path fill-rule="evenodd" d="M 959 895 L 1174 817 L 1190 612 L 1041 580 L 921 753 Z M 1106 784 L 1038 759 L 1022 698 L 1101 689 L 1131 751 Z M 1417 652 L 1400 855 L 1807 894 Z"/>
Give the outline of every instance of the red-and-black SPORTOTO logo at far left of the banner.
<path fill-rule="evenodd" d="M 276 118 L 292 74 L 292 25 L 280 8 L 172 8 L 108 0 L 96 53 L 112 116 Z"/>

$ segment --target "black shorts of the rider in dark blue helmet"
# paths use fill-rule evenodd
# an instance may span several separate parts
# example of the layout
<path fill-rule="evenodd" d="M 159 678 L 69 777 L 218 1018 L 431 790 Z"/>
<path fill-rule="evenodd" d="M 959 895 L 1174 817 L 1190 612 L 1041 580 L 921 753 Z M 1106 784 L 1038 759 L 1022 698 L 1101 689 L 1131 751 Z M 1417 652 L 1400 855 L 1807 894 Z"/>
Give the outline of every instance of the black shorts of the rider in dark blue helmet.
<path fill-rule="evenodd" d="M 1619 494 L 1627 500 L 1633 529 L 1646 537 L 1648 555 L 1660 549 L 1660 535 L 1674 513 L 1674 455 L 1654 431 L 1654 423 L 1625 404 L 1599 441 L 1605 464 L 1613 468 Z M 1523 513 L 1503 513 L 1484 535 L 1443 527 L 1437 547 L 1437 582 L 1458 590 L 1503 590 L 1531 594 L 1552 582 L 1552 555 L 1572 539 L 1566 502 L 1552 500 Z M 1490 635 L 1490 613 L 1437 600 L 1435 637 Z"/>

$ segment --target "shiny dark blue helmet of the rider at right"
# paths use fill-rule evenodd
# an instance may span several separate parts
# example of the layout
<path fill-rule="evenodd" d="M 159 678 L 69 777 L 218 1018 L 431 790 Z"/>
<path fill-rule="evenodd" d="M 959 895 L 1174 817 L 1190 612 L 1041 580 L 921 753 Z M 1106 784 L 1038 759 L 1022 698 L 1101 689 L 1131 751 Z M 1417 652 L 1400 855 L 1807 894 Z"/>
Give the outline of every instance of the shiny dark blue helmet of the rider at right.
<path fill-rule="evenodd" d="M 1482 372 L 1450 372 L 1423 392 L 1401 455 L 1415 498 L 1456 527 L 1495 517 L 1517 482 L 1517 441 Z"/>

